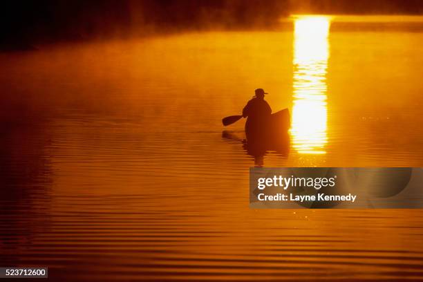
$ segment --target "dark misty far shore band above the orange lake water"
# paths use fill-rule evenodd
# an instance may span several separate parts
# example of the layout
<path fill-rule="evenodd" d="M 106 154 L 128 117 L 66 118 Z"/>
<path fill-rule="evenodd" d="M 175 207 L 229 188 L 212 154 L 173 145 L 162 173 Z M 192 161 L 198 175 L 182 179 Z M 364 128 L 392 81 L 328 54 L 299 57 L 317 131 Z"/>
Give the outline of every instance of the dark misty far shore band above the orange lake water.
<path fill-rule="evenodd" d="M 291 12 L 420 14 L 421 0 L 2 1 L 1 48 L 178 30 L 268 28 Z"/>

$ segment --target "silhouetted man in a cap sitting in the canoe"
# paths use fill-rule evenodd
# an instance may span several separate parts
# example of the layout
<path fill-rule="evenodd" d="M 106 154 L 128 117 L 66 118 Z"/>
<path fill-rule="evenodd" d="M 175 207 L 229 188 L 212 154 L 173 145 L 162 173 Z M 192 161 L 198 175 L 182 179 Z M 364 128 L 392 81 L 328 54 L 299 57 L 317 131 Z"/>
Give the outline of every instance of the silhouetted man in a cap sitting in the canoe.
<path fill-rule="evenodd" d="M 249 141 L 260 140 L 264 137 L 272 115 L 272 109 L 264 100 L 264 95 L 267 93 L 262 88 L 257 88 L 254 92 L 256 95 L 243 109 L 243 118 L 247 118 L 245 134 Z"/>

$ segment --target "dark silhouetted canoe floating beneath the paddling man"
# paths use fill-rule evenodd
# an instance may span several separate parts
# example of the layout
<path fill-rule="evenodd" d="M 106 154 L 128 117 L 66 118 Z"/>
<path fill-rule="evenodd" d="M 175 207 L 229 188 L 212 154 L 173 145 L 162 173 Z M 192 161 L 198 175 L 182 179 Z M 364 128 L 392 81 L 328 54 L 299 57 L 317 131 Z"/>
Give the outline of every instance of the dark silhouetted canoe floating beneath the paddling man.
<path fill-rule="evenodd" d="M 279 144 L 286 139 L 290 129 L 290 111 L 273 113 L 270 118 L 261 120 L 247 120 L 245 123 L 245 135 L 250 144 Z"/>

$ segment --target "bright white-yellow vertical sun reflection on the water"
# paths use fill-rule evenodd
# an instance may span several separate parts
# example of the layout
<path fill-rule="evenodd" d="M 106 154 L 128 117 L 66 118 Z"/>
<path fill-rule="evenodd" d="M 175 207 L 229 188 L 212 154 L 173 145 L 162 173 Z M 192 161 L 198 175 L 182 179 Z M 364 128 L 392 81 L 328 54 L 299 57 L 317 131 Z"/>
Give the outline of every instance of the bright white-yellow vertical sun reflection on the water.
<path fill-rule="evenodd" d="M 291 134 L 299 153 L 326 153 L 329 17 L 294 21 L 294 101 Z"/>

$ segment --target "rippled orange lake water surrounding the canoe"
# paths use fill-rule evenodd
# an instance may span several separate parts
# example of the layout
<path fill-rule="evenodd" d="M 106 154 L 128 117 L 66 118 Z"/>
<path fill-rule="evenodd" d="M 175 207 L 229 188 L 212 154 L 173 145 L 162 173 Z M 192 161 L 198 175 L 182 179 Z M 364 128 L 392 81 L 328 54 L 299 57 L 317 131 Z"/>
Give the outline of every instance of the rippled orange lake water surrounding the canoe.
<path fill-rule="evenodd" d="M 312 32 L 310 33 L 310 30 Z M 0 54 L 1 266 L 54 281 L 422 279 L 420 210 L 249 208 L 249 168 L 423 167 L 423 17 Z M 254 158 L 264 88 L 290 145 Z"/>

